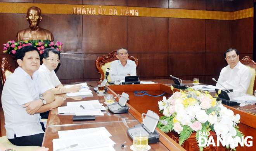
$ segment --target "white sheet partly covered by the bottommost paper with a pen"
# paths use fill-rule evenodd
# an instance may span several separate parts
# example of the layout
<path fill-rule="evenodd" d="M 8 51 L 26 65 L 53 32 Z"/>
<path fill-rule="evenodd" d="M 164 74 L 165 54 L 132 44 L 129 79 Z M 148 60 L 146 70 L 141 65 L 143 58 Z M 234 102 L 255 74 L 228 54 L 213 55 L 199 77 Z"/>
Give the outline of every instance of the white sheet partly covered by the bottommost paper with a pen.
<path fill-rule="evenodd" d="M 95 127 L 95 128 L 89 128 L 89 129 L 74 129 L 69 131 L 58 131 L 59 138 L 68 138 L 68 137 L 76 137 L 76 136 L 82 136 L 86 134 L 91 134 L 99 131 L 104 131 L 108 137 L 111 137 L 112 135 L 107 131 L 105 127 Z"/>

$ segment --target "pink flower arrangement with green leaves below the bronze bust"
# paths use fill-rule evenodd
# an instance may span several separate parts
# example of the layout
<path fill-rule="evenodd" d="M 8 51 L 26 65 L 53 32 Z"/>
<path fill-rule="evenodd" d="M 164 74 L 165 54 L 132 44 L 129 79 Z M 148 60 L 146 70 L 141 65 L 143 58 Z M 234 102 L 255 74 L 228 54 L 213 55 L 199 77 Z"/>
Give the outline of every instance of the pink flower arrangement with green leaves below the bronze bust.
<path fill-rule="evenodd" d="M 54 48 L 60 53 L 62 52 L 62 43 L 57 41 L 53 42 L 50 40 L 29 40 L 29 41 L 7 41 L 3 44 L 3 53 L 16 54 L 16 51 L 24 46 L 35 46 L 40 52 L 40 58 L 42 58 L 43 51 L 46 48 Z"/>

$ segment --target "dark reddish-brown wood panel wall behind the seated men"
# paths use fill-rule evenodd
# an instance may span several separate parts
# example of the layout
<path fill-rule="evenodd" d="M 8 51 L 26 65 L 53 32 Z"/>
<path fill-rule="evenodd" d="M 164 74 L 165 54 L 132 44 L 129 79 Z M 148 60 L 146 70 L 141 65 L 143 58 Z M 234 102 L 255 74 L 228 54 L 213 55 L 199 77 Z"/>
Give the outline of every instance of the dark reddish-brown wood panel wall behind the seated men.
<path fill-rule="evenodd" d="M 0 0 L 0 2 L 67 3 L 193 10 L 237 11 L 254 0 Z M 199 78 L 212 84 L 226 66 L 223 53 L 237 49 L 240 59 L 253 57 L 253 17 L 239 20 L 178 19 L 97 15 L 43 14 L 40 26 L 64 45 L 57 76 L 62 83 L 96 81 L 95 59 L 120 47 L 139 60 L 140 79 Z M 0 14 L 0 44 L 28 27 L 26 14 Z M 3 24 L 4 23 L 4 24 Z M 2 48 L 1 48 L 2 49 Z M 9 54 L 0 51 L 0 59 Z"/>

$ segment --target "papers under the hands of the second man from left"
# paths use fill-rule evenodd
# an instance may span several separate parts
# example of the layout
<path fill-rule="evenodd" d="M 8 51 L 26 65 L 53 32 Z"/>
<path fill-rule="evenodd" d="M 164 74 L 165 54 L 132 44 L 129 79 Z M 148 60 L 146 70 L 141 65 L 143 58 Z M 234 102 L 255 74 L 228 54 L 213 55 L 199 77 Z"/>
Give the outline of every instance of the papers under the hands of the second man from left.
<path fill-rule="evenodd" d="M 86 97 L 92 97 L 92 91 L 90 90 L 90 88 L 87 86 L 87 83 L 80 83 L 77 85 L 82 85 L 81 86 L 81 90 L 79 92 L 71 92 L 71 93 L 67 93 L 66 95 L 69 97 L 74 97 L 74 96 L 84 96 L 86 95 Z M 73 87 L 74 85 L 65 85 L 66 88 L 70 88 Z"/>

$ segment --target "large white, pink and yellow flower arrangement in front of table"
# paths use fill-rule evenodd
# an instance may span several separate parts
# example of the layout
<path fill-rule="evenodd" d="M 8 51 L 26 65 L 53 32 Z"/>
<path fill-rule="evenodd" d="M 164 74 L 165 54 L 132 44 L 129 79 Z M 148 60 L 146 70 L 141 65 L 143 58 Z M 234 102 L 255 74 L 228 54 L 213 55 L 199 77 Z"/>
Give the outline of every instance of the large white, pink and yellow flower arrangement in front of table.
<path fill-rule="evenodd" d="M 173 86 L 171 86 L 173 90 Z M 220 93 L 220 92 L 219 92 Z M 193 88 L 185 91 L 173 92 L 173 95 L 158 102 L 159 111 L 163 115 L 160 119 L 168 121 L 168 125 L 158 123 L 157 127 L 163 132 L 175 131 L 180 135 L 179 144 L 182 145 L 192 134 L 196 132 L 195 138 L 199 143 L 199 132 L 206 134 L 208 131 L 215 131 L 217 136 L 227 142 L 227 137 L 232 136 L 242 138 L 243 134 L 238 130 L 240 115 L 234 115 L 234 112 L 216 101 L 209 92 L 200 92 Z M 207 135 L 202 135 L 206 137 Z M 225 139 L 226 138 L 226 139 Z M 204 143 L 202 143 L 204 144 Z M 228 144 L 227 148 L 234 149 L 235 146 Z M 203 147 L 199 146 L 200 151 Z M 235 150 L 235 149 L 234 149 Z"/>

